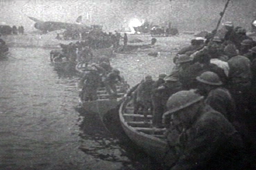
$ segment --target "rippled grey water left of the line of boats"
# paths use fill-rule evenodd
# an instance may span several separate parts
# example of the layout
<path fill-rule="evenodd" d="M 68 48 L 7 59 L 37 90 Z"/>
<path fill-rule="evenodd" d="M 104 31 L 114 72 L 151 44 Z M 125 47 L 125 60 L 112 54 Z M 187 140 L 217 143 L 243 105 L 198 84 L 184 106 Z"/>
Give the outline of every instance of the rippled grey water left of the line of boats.
<path fill-rule="evenodd" d="M 144 169 L 94 114 L 76 111 L 78 77 L 56 72 L 49 52 L 11 48 L 0 61 L 0 169 Z"/>

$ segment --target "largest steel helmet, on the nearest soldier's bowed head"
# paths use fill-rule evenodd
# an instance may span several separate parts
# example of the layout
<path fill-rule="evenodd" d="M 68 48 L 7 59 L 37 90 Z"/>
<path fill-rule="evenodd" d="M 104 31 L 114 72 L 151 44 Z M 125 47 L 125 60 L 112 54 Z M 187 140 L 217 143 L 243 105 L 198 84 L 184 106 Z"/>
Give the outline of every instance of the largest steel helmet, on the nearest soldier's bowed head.
<path fill-rule="evenodd" d="M 170 96 L 168 99 L 166 106 L 168 111 L 164 113 L 165 115 L 178 111 L 180 109 L 184 109 L 196 102 L 199 102 L 204 97 L 195 93 L 195 90 L 183 90 L 177 92 Z"/>

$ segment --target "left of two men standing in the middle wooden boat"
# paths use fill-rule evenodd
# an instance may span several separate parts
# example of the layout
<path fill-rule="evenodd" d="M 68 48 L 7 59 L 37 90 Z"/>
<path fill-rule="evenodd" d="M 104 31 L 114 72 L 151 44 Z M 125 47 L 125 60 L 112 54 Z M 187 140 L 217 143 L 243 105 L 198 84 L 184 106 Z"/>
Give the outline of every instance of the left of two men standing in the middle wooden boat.
<path fill-rule="evenodd" d="M 100 86 L 101 77 L 96 68 L 88 65 L 86 72 L 79 82 L 82 91 L 79 96 L 83 102 L 97 100 L 97 89 Z"/>

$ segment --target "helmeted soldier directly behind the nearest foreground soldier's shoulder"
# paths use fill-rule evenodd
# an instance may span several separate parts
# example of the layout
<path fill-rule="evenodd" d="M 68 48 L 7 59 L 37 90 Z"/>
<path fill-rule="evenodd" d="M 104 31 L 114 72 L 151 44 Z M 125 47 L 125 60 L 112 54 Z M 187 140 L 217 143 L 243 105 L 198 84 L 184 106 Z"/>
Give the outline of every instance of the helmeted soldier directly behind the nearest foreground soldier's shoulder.
<path fill-rule="evenodd" d="M 205 103 L 211 106 L 214 110 L 222 113 L 230 123 L 240 133 L 244 144 L 247 147 L 247 152 L 251 143 L 248 138 L 248 130 L 246 127 L 244 114 L 236 110 L 236 104 L 230 92 L 222 87 L 222 82 L 214 72 L 204 72 L 196 78 L 200 82 L 198 92 L 205 96 Z M 251 120 L 252 117 L 250 117 Z"/>

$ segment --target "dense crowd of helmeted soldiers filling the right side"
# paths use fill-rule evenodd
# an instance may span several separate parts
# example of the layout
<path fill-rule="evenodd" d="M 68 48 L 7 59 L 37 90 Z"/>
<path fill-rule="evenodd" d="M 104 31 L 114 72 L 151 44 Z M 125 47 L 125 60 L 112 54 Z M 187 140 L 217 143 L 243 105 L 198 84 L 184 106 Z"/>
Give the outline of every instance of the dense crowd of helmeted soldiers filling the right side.
<path fill-rule="evenodd" d="M 128 93 L 134 114 L 153 115 L 166 128 L 170 170 L 254 170 L 249 132 L 256 123 L 256 42 L 242 27 L 224 23 L 192 39 L 174 57 L 170 75 L 148 75 Z"/>

